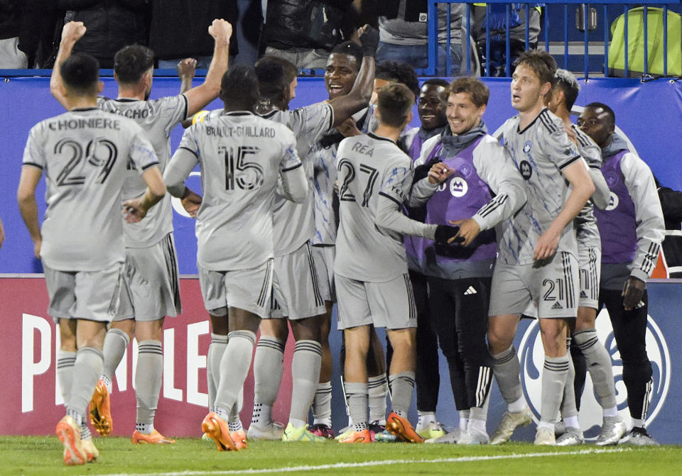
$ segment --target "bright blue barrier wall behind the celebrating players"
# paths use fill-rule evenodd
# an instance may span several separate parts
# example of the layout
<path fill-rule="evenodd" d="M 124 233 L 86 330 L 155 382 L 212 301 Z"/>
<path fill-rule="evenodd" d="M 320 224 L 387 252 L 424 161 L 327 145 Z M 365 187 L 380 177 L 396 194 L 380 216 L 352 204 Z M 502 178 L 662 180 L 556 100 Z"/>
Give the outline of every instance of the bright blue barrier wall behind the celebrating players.
<path fill-rule="evenodd" d="M 490 100 L 483 116 L 489 131 L 494 131 L 515 114 L 509 101 L 509 79 L 485 79 L 490 88 Z M 113 79 L 104 78 L 104 94 L 117 94 Z M 637 79 L 590 79 L 581 82 L 578 105 L 592 101 L 609 104 L 615 111 L 619 128 L 632 141 L 634 147 L 649 164 L 661 182 L 674 189 L 682 189 L 682 82 L 667 79 L 642 84 Z M 153 97 L 168 96 L 179 91 L 175 78 L 154 79 Z M 299 78 L 296 99 L 292 107 L 327 99 L 321 78 Z M 21 172 L 21 157 L 28 131 L 45 118 L 63 112 L 49 92 L 49 79 L 45 77 L 8 78 L 0 82 L 0 218 L 5 226 L 6 241 L 0 253 L 0 273 L 41 272 L 40 262 L 33 258 L 33 246 L 21 222 L 16 205 L 16 187 Z M 214 101 L 210 108 L 220 107 Z M 414 114 L 414 125 L 418 115 Z M 173 131 L 175 148 L 180 142 L 182 128 Z M 192 181 L 195 182 L 192 182 Z M 198 177 L 190 178 L 190 187 L 199 187 Z M 44 193 L 43 184 L 38 197 Z M 41 216 L 44 204 L 40 201 Z M 178 246 L 180 273 L 195 274 L 196 240 L 194 222 L 175 214 L 175 243 Z"/>

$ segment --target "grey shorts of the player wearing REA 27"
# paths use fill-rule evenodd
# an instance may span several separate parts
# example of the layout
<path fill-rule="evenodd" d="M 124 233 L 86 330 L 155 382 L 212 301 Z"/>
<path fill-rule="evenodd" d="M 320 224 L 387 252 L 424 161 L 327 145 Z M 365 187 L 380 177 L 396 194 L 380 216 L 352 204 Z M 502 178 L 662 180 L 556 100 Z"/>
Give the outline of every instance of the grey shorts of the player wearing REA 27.
<path fill-rule="evenodd" d="M 386 282 L 337 275 L 336 292 L 339 329 L 369 324 L 387 329 L 417 326 L 417 308 L 407 273 Z"/>

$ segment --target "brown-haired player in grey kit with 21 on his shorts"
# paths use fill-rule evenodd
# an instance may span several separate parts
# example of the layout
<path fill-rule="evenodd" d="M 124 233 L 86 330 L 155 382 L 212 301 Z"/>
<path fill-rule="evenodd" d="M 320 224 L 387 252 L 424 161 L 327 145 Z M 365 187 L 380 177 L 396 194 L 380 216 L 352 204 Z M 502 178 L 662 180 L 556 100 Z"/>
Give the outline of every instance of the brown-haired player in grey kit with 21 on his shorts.
<path fill-rule="evenodd" d="M 573 218 L 595 187 L 561 119 L 544 107 L 555 72 L 556 62 L 547 52 L 519 57 L 511 79 L 511 106 L 519 114 L 502 126 L 504 146 L 526 180 L 528 201 L 499 227 L 488 345 L 508 409 L 491 443 L 508 441 L 516 426 L 531 421 L 513 345 L 521 313 L 531 302 L 538 308 L 545 353 L 536 445 L 555 444 L 553 422 L 568 376 L 567 320 L 575 319 L 580 293 Z"/>

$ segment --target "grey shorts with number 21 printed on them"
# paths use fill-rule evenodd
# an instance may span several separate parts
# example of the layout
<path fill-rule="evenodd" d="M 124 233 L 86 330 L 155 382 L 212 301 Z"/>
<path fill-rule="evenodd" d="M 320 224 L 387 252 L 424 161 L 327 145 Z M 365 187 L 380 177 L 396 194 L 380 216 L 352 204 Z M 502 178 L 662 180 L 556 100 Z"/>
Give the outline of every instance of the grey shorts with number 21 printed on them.
<path fill-rule="evenodd" d="M 526 314 L 543 319 L 566 319 L 578 313 L 580 296 L 578 259 L 557 251 L 538 267 L 497 262 L 490 287 L 489 316 Z"/>

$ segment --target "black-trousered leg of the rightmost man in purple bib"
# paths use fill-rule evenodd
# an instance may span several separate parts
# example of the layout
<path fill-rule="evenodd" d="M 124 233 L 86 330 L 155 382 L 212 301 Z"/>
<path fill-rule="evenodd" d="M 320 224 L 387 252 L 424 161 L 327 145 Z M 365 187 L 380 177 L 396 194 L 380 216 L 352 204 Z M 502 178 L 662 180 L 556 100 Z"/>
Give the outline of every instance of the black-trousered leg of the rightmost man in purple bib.
<path fill-rule="evenodd" d="M 646 354 L 649 296 L 645 290 L 639 307 L 626 311 L 621 292 L 602 289 L 602 293 L 623 362 L 623 382 L 627 389 L 627 407 L 632 419 L 632 429 L 622 439 L 622 443 L 657 445 L 645 428 L 653 375 L 651 362 Z"/>

